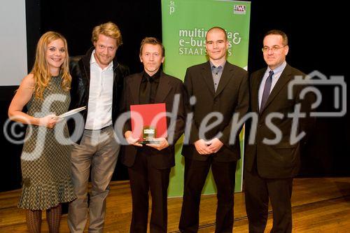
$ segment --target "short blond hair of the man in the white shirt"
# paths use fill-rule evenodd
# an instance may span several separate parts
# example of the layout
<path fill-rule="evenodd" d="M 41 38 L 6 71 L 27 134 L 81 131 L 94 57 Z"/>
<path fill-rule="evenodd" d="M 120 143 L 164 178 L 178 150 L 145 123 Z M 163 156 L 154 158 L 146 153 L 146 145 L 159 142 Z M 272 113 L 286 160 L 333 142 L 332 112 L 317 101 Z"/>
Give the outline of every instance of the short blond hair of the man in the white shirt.
<path fill-rule="evenodd" d="M 123 44 L 122 34 L 120 33 L 119 27 L 113 22 L 106 22 L 94 27 L 91 38 L 93 44 L 99 39 L 99 34 L 115 38 L 117 41 L 117 47 Z"/>

